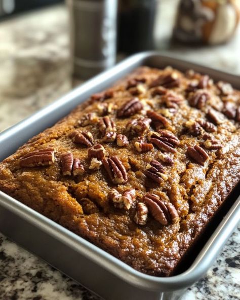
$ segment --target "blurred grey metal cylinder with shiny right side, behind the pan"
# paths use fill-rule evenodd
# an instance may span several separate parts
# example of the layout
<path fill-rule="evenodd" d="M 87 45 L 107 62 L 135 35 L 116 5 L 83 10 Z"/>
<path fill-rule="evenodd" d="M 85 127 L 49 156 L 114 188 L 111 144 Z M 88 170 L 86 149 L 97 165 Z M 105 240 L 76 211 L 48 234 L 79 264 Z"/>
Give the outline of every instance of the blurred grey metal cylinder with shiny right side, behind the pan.
<path fill-rule="evenodd" d="M 87 80 L 116 58 L 117 0 L 67 0 L 73 75 Z"/>

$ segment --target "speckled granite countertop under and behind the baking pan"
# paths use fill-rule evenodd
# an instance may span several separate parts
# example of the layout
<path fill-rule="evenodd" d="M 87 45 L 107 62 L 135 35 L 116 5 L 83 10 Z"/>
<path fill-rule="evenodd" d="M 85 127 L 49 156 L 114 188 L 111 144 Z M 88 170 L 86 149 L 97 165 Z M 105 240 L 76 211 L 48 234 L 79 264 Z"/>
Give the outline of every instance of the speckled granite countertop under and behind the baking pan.
<path fill-rule="evenodd" d="M 166 7 L 165 17 L 170 14 Z M 165 36 L 167 31 L 161 34 Z M 67 14 L 63 6 L 0 23 L 0 131 L 72 88 L 67 37 Z M 181 48 L 178 53 L 240 73 L 239 37 L 240 34 L 227 46 Z M 177 50 L 173 47 L 171 51 Z M 181 300 L 239 299 L 239 246 L 240 227 L 205 277 L 192 285 Z M 0 282 L 0 299 L 4 300 L 98 299 L 2 234 Z"/>

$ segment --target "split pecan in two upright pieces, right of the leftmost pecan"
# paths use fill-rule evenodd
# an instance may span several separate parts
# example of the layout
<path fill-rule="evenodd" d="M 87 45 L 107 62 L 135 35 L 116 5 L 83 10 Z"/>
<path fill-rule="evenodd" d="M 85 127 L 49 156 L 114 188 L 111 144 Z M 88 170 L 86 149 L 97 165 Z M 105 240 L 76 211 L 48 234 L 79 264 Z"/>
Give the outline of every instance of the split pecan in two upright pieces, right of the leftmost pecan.
<path fill-rule="evenodd" d="M 82 175 L 85 172 L 84 166 L 81 164 L 78 158 L 73 159 L 73 155 L 70 152 L 64 153 L 61 156 L 62 174 L 64 176 L 71 174 L 73 176 Z"/>

